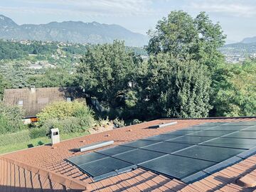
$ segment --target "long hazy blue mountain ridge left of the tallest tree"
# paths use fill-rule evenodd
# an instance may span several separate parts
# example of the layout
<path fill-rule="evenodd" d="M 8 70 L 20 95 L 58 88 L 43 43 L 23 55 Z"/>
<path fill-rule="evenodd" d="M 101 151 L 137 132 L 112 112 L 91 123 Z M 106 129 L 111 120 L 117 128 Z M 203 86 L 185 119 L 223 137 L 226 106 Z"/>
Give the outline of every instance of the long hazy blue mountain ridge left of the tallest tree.
<path fill-rule="evenodd" d="M 148 38 L 119 25 L 83 23 L 82 21 L 50 22 L 47 24 L 18 25 L 11 18 L 0 15 L 0 38 L 72 43 L 112 43 L 124 40 L 127 46 L 142 47 Z"/>

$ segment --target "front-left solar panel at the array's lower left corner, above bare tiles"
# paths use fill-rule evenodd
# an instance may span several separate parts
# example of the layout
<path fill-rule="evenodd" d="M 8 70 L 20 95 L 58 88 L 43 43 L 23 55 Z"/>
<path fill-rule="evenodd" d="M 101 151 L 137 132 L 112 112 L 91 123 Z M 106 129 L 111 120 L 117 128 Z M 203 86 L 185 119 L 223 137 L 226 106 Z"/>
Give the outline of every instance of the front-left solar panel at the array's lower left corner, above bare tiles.
<path fill-rule="evenodd" d="M 95 181 L 136 168 L 133 164 L 112 157 L 92 161 L 78 167 L 81 171 L 92 176 Z"/>

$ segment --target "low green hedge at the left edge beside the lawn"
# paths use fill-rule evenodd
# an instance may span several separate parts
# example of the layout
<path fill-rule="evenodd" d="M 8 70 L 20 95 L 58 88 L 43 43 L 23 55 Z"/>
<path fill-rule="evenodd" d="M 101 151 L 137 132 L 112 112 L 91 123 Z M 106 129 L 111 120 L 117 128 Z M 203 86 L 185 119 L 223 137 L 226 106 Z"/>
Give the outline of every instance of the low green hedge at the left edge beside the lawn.
<path fill-rule="evenodd" d="M 30 139 L 29 130 L 23 130 L 21 132 L 11 134 L 0 134 L 0 146 L 16 144 L 19 142 L 28 142 Z"/>

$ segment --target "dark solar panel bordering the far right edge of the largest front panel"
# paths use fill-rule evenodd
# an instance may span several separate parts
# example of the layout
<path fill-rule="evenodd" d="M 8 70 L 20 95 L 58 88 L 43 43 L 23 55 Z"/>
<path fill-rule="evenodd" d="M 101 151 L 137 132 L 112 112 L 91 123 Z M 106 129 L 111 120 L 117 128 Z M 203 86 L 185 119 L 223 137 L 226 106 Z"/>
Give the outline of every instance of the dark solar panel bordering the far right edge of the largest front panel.
<path fill-rule="evenodd" d="M 229 159 L 232 156 L 242 153 L 242 151 L 245 150 L 216 146 L 192 146 L 174 154 L 219 163 L 225 159 Z"/>

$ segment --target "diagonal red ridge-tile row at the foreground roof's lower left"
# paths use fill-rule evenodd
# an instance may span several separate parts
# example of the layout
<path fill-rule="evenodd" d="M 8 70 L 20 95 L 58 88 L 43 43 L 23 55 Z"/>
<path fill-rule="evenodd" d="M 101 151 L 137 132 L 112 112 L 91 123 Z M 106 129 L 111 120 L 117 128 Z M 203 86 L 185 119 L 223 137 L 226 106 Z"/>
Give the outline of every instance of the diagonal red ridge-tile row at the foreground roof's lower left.
<path fill-rule="evenodd" d="M 28 165 L 28 164 L 23 164 L 22 162 L 19 162 L 19 161 L 13 160 L 13 159 L 9 159 L 4 156 L 0 156 L 0 159 L 2 159 L 4 161 L 8 161 L 10 164 L 14 164 L 23 169 L 26 169 L 27 171 L 31 171 L 31 172 L 33 172 L 33 174 L 38 174 L 40 176 L 49 178 L 51 181 L 60 183 L 63 186 L 66 186 L 67 188 L 71 188 L 74 190 L 82 190 L 82 191 L 90 190 L 89 189 L 90 187 L 81 181 L 70 180 L 70 178 L 68 178 L 66 176 L 60 176 L 58 174 L 54 174 L 54 173 L 46 171 L 44 169 L 36 168 L 36 167 Z"/>

